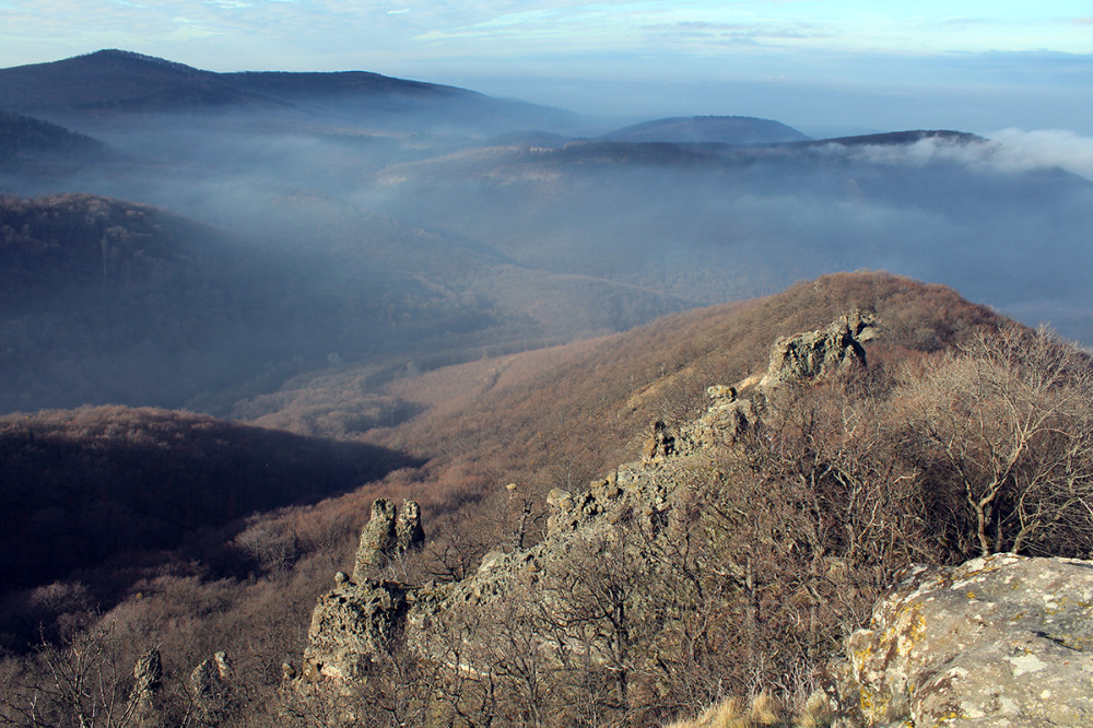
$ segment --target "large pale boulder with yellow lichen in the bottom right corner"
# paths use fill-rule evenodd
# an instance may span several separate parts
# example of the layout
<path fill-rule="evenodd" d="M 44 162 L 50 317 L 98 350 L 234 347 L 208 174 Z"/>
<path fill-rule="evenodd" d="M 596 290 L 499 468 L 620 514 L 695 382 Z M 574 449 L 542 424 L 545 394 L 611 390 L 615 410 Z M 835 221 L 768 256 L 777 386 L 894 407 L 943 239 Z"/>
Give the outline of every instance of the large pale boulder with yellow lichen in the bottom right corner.
<path fill-rule="evenodd" d="M 1093 726 L 1093 562 L 912 570 L 832 668 L 854 726 Z"/>

